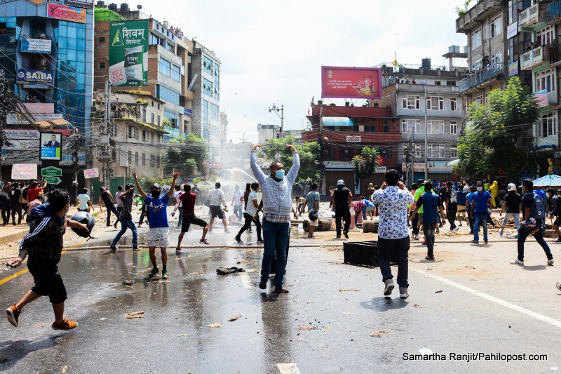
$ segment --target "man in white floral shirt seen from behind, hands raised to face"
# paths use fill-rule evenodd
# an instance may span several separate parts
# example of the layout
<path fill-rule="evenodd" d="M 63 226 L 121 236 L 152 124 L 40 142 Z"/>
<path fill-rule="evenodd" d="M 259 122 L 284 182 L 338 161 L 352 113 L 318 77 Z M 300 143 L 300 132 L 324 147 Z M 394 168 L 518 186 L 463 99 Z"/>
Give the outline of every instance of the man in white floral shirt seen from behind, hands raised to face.
<path fill-rule="evenodd" d="M 379 212 L 378 226 L 378 262 L 384 295 L 391 295 L 393 275 L 391 274 L 390 255 L 395 253 L 398 261 L 398 285 L 401 298 L 407 298 L 409 283 L 409 229 L 407 228 L 407 206 L 414 203 L 412 194 L 399 180 L 399 173 L 394 169 L 386 171 L 386 182 L 372 194 L 372 203 Z"/>

